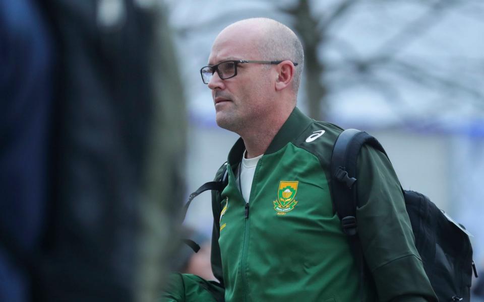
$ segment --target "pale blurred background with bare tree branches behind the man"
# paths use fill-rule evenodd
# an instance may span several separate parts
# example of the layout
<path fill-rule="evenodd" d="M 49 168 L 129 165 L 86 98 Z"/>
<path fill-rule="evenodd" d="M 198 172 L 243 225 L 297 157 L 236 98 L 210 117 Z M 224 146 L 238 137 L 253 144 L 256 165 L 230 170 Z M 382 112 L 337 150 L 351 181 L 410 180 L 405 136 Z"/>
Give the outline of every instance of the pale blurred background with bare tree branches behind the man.
<path fill-rule="evenodd" d="M 366 130 L 385 146 L 403 188 L 466 226 L 484 268 L 484 3 L 481 1 L 165 1 L 188 97 L 188 195 L 212 180 L 237 136 L 215 124 L 199 69 L 225 26 L 269 17 L 305 47 L 298 106 Z M 210 194 L 187 224 L 209 235 Z"/>

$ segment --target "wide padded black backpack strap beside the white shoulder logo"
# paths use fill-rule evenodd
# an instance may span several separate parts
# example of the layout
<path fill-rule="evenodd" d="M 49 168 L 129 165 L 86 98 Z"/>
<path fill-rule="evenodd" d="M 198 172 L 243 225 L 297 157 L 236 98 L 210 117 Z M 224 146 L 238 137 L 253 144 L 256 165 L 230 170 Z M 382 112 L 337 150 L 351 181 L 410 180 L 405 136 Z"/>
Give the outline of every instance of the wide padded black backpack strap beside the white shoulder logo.
<path fill-rule="evenodd" d="M 378 140 L 364 131 L 346 129 L 338 136 L 331 156 L 333 202 L 346 235 L 357 233 L 356 162 L 361 147 L 370 144 L 385 155 Z"/>

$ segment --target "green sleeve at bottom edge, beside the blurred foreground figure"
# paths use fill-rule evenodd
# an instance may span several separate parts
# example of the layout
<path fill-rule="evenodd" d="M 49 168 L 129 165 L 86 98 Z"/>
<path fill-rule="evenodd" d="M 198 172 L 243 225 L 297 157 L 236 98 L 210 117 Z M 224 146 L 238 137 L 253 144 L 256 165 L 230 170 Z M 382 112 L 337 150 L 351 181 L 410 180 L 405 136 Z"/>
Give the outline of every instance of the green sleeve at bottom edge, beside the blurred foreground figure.
<path fill-rule="evenodd" d="M 193 274 L 171 273 L 159 302 L 218 302 L 223 297 L 219 283 Z"/>

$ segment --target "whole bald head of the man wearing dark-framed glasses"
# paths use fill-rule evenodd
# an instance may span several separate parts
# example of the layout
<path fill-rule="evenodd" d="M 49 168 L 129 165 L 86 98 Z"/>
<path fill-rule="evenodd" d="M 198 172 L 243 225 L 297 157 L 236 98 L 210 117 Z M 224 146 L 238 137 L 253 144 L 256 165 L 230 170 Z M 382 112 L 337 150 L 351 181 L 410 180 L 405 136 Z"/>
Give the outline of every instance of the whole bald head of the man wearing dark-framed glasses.
<path fill-rule="evenodd" d="M 232 78 L 221 73 L 221 79 L 214 72 L 208 87 L 220 127 L 241 134 L 255 127 L 263 130 L 264 122 L 287 118 L 295 106 L 304 65 L 301 43 L 289 28 L 265 18 L 229 25 L 215 39 L 208 64 L 226 60 L 269 63 L 229 62 L 229 68 L 236 68 Z M 222 71 L 222 65 L 218 67 Z"/>

